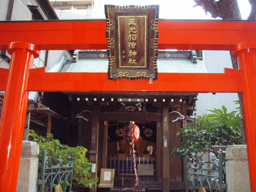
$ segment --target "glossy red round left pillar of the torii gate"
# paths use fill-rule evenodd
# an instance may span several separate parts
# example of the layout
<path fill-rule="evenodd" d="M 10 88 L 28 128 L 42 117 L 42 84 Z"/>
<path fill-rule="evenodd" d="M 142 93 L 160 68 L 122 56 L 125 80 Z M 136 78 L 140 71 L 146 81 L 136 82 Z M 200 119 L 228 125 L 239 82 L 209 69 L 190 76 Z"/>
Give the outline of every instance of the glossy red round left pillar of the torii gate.
<path fill-rule="evenodd" d="M 8 52 L 12 58 L 0 122 L 0 148 L 4 157 L 0 163 L 0 181 L 3 183 L 0 189 L 16 191 L 28 101 L 28 74 L 39 53 L 37 46 L 25 42 L 9 44 Z"/>

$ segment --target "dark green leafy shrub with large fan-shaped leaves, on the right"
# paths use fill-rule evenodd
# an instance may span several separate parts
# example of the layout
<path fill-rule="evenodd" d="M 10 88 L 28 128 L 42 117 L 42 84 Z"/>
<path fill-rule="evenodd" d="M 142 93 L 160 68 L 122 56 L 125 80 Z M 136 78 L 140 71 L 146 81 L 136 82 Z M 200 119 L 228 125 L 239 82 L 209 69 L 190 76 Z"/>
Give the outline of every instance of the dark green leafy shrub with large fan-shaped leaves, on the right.
<path fill-rule="evenodd" d="M 238 104 L 238 101 L 234 102 Z M 181 146 L 170 150 L 170 154 L 178 153 L 180 157 L 184 158 L 186 155 L 195 156 L 202 152 L 202 156 L 208 152 L 214 153 L 212 149 L 214 145 L 242 144 L 238 111 L 227 113 L 225 106 L 222 106 L 222 109 L 214 108 L 214 110 L 209 111 L 213 113 L 198 116 L 197 125 L 192 122 L 191 126 L 182 127 L 177 132 L 177 135 L 182 139 Z"/>

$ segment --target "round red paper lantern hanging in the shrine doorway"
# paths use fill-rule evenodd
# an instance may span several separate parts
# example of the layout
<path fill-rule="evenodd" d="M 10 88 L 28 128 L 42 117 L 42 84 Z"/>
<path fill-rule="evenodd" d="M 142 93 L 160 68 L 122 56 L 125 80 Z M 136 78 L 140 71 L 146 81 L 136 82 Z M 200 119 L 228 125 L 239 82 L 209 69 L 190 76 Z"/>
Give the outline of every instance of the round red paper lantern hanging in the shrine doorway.
<path fill-rule="evenodd" d="M 139 127 L 134 124 L 134 122 L 127 123 L 123 127 L 123 139 L 127 142 L 132 142 L 132 139 L 134 142 L 138 140 L 140 136 L 140 129 Z"/>

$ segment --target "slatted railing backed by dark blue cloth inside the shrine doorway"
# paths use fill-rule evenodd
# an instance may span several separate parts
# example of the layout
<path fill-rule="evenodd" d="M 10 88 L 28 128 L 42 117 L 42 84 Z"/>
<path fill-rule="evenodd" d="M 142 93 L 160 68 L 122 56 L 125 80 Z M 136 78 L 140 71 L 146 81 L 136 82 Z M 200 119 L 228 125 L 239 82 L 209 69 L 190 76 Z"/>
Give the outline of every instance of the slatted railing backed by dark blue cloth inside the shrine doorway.
<path fill-rule="evenodd" d="M 156 181 L 156 158 L 153 156 L 135 156 L 136 167 L 138 164 L 153 164 L 154 175 L 141 175 L 139 179 L 142 181 Z M 121 179 L 120 174 L 133 174 L 133 159 L 130 156 L 110 156 L 107 158 L 107 168 L 115 169 L 115 178 Z M 126 175 L 125 179 L 134 179 L 132 175 Z"/>

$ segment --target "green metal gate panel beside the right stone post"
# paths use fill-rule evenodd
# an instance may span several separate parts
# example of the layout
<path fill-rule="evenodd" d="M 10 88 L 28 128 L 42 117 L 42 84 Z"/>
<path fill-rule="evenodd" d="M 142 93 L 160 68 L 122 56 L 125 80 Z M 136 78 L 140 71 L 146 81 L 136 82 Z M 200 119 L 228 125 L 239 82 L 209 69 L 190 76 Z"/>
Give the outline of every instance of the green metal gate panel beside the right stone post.
<path fill-rule="evenodd" d="M 198 162 L 199 167 L 193 166 L 193 159 L 185 157 L 185 191 L 188 192 L 189 188 L 193 188 L 193 192 L 199 187 L 204 187 L 210 192 L 219 191 L 223 192 L 227 185 L 223 182 L 223 160 L 222 153 L 218 153 L 218 158 L 211 159 L 208 166 L 205 168 L 205 162 Z"/>

